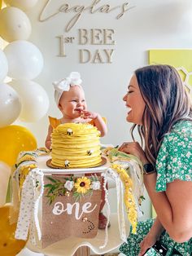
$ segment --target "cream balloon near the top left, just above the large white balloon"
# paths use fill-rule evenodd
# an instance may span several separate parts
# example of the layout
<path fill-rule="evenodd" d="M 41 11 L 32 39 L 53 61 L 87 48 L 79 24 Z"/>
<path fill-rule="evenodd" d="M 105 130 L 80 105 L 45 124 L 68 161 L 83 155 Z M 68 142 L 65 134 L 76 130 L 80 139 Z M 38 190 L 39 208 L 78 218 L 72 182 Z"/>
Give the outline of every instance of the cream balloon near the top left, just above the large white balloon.
<path fill-rule="evenodd" d="M 7 42 L 29 38 L 32 26 L 24 11 L 15 7 L 3 8 L 0 20 L 0 36 Z"/>

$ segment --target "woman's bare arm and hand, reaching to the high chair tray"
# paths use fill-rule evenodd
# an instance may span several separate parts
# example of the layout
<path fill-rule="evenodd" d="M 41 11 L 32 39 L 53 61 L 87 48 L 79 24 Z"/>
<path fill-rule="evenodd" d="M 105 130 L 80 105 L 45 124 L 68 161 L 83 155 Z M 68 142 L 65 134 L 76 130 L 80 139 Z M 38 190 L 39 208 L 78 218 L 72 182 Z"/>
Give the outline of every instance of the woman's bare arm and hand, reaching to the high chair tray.
<path fill-rule="evenodd" d="M 139 143 L 124 143 L 120 151 L 139 157 L 143 165 L 147 163 L 145 152 Z M 156 192 L 156 179 L 156 173 L 144 174 L 146 190 L 159 222 L 174 241 L 188 241 L 192 237 L 192 182 L 177 179 L 167 183 L 166 192 Z"/>

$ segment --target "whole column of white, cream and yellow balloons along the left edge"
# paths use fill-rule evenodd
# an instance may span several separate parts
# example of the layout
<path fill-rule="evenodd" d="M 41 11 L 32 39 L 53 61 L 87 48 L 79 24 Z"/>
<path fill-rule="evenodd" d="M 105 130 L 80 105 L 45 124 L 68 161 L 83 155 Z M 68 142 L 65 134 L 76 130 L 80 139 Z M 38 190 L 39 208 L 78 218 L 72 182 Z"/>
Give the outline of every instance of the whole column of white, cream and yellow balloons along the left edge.
<path fill-rule="evenodd" d="M 24 11 L 37 1 L 4 0 L 4 7 L 0 0 L 0 37 L 9 42 L 4 51 L 0 49 L 0 251 L 4 256 L 15 256 L 26 243 L 15 239 L 16 224 L 9 220 L 12 206 L 4 205 L 11 166 L 21 151 L 37 148 L 28 129 L 11 124 L 18 118 L 37 121 L 49 107 L 46 90 L 31 81 L 43 68 L 41 51 L 26 41 L 32 27 Z M 4 82 L 7 76 L 14 79 L 9 85 Z"/>

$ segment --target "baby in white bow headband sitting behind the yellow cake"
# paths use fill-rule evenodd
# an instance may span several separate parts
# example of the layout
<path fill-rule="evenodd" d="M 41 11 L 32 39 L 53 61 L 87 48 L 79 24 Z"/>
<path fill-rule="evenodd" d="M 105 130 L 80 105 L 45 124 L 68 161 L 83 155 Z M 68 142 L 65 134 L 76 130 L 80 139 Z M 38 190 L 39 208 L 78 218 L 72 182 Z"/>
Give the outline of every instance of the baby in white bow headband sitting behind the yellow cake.
<path fill-rule="evenodd" d="M 85 101 L 85 93 L 81 86 L 80 73 L 72 72 L 69 77 L 61 80 L 60 82 L 54 82 L 55 86 L 55 102 L 62 113 L 63 117 L 56 119 L 50 118 L 50 126 L 48 135 L 46 136 L 46 148 L 51 147 L 50 135 L 57 126 L 63 123 L 69 122 L 89 122 L 93 126 L 96 126 L 101 132 L 101 136 L 107 134 L 107 125 L 103 121 L 98 113 L 89 112 L 87 110 L 87 104 Z M 103 188 L 103 184 L 102 184 Z M 102 210 L 105 204 L 105 192 L 102 191 L 102 202 L 100 205 L 98 228 L 104 229 L 107 224 L 107 218 L 103 215 Z"/>

